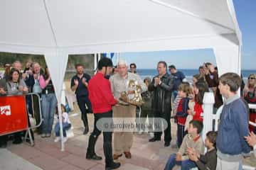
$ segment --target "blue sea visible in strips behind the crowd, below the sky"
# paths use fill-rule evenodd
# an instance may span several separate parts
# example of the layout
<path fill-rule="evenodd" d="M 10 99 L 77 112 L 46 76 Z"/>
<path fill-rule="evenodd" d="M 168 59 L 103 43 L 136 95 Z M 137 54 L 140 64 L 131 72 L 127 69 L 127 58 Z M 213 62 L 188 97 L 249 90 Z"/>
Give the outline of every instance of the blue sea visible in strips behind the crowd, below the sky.
<path fill-rule="evenodd" d="M 185 74 L 186 79 L 188 81 L 192 81 L 193 75 L 198 74 L 198 69 L 178 69 L 178 71 L 183 72 Z M 150 77 L 151 79 L 157 75 L 156 69 L 137 69 L 137 73 L 139 76 L 144 79 L 145 77 Z M 242 69 L 242 78 L 247 82 L 247 77 L 250 74 L 256 74 L 256 69 Z"/>

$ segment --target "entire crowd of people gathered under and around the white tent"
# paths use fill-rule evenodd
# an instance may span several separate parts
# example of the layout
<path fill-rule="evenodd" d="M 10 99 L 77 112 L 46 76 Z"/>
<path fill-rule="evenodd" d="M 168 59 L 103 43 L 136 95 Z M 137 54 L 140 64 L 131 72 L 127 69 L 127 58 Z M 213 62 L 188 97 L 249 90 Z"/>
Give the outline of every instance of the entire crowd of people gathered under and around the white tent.
<path fill-rule="evenodd" d="M 0 80 L 0 95 L 39 94 L 43 123 L 36 132 L 41 134 L 41 137 L 50 137 L 57 100 L 48 68 L 43 70 L 37 62 L 28 62 L 22 72 L 21 62 L 18 61 L 12 65 L 6 64 L 5 67 L 4 77 Z M 247 106 L 247 103 L 256 103 L 256 74 L 250 74 L 247 83 L 244 84 L 238 74 L 226 73 L 218 77 L 217 67 L 211 63 L 204 63 L 190 84 L 183 72 L 178 71 L 174 64 L 168 67 L 166 62 L 160 61 L 157 63 L 158 74 L 153 79 L 146 77 L 142 80 L 137 74 L 136 64 L 128 66 L 127 62 L 119 60 L 117 66 L 113 67 L 112 61 L 106 57 L 98 62 L 97 73 L 93 77 L 84 72 L 82 64 L 76 64 L 75 69 L 76 74 L 70 81 L 70 89 L 75 91 L 85 128 L 84 135 L 89 132 L 87 113 L 94 113 L 95 118 L 86 158 L 102 159 L 95 153 L 95 143 L 103 131 L 106 169 L 117 169 L 120 164 L 114 162 L 114 159 L 119 159 L 122 154 L 127 159 L 132 158 L 130 149 L 134 132 L 114 132 L 112 149 L 112 131 L 104 131 L 97 127 L 101 118 L 134 118 L 134 121 L 137 119 L 136 122 L 139 121 L 141 124 L 146 123 L 146 118 L 149 118 L 151 125 L 154 125 L 153 118 L 162 118 L 167 123 L 164 129 L 164 147 L 171 145 L 171 119 L 174 119 L 177 124 L 177 140 L 176 145 L 172 147 L 177 147 L 178 152 L 171 154 L 165 169 L 172 169 L 176 164 L 181 165 L 181 169 L 241 169 L 242 154 L 250 152 L 252 147 L 256 150 L 256 129 L 248 125 L 249 119 L 253 123 L 256 122 L 256 113 Z M 122 101 L 121 98 L 123 94 L 131 96 L 138 93 L 136 89 L 127 86 L 131 80 L 139 86 L 139 94 L 144 101 L 139 115 L 139 106 Z M 238 95 L 239 89 L 241 96 Z M 218 132 L 208 132 L 204 143 L 201 137 L 203 115 L 206 114 L 203 111 L 203 96 L 208 91 L 213 92 L 215 97 L 213 112 L 216 113 L 220 106 L 223 106 L 223 111 Z M 37 125 L 41 122 L 38 100 L 40 99 L 36 96 L 26 97 L 28 113 L 34 113 Z M 34 111 L 31 111 L 32 108 Z M 61 107 L 61 112 L 66 141 L 65 131 L 71 124 L 64 106 Z M 139 119 L 136 118 L 138 116 Z M 58 142 L 58 123 L 54 129 L 55 142 Z M 151 136 L 149 142 L 161 141 L 161 130 L 155 131 L 154 126 L 149 126 L 147 130 L 139 128 L 139 134 L 146 131 Z M 13 135 L 14 144 L 22 142 L 23 133 L 17 132 Z M 8 135 L 1 136 L 1 147 L 6 147 L 8 139 Z M 205 146 L 208 149 L 206 154 Z"/>

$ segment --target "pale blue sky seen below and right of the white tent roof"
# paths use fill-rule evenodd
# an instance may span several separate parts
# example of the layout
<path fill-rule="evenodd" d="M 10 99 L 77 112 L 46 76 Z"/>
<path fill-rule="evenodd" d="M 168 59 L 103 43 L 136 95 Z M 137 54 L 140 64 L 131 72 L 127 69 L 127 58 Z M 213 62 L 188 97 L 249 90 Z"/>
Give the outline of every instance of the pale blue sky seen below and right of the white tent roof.
<path fill-rule="evenodd" d="M 242 69 L 256 69 L 256 0 L 233 0 L 233 4 L 242 32 Z M 141 69 L 154 69 L 160 60 L 175 64 L 180 69 L 197 69 L 203 62 L 215 64 L 215 56 L 211 49 L 125 52 L 122 53 L 122 58 L 128 63 L 135 62 Z"/>

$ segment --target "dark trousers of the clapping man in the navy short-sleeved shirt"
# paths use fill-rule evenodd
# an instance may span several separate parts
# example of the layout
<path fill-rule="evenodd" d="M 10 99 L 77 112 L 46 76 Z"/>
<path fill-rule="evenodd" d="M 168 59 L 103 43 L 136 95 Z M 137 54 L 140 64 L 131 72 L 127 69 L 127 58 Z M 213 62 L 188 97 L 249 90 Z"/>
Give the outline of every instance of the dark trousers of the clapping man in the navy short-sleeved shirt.
<path fill-rule="evenodd" d="M 88 127 L 87 113 L 92 113 L 92 106 L 87 96 L 77 96 L 78 106 L 81 111 L 81 119 L 85 128 Z M 85 107 L 85 104 L 87 108 Z"/>

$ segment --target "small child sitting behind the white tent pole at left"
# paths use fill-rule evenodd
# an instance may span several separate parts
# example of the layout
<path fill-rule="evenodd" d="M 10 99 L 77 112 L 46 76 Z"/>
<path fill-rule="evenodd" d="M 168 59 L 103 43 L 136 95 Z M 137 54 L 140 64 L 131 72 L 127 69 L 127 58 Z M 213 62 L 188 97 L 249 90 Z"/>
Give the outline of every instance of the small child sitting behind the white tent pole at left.
<path fill-rule="evenodd" d="M 63 119 L 63 142 L 66 142 L 68 140 L 67 132 L 66 130 L 69 130 L 71 128 L 71 123 L 68 118 L 68 113 L 65 111 L 65 106 L 61 104 L 61 113 L 62 113 L 62 119 Z M 60 123 L 59 121 L 55 125 L 55 140 L 54 142 L 60 141 Z"/>

